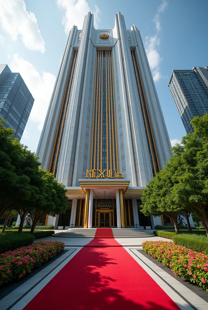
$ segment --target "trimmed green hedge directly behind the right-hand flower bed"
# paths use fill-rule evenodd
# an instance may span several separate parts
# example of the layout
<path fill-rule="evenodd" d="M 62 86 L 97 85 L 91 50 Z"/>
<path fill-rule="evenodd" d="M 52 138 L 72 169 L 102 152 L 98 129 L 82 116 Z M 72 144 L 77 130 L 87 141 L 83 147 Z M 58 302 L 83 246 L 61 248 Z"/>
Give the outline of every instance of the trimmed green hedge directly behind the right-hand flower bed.
<path fill-rule="evenodd" d="M 201 251 L 208 254 L 208 238 L 196 234 L 175 234 L 173 242 L 189 249 Z"/>

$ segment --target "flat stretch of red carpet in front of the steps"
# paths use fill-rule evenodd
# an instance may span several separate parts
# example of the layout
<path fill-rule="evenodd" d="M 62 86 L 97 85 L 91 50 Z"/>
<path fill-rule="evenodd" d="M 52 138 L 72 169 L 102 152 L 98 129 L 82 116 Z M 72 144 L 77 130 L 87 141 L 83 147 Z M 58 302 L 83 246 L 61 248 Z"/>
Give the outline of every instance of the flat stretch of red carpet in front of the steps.
<path fill-rule="evenodd" d="M 121 246 L 93 239 L 24 310 L 180 310 Z M 104 242 L 103 240 L 97 242 Z M 110 244 L 118 243 L 109 240 Z"/>

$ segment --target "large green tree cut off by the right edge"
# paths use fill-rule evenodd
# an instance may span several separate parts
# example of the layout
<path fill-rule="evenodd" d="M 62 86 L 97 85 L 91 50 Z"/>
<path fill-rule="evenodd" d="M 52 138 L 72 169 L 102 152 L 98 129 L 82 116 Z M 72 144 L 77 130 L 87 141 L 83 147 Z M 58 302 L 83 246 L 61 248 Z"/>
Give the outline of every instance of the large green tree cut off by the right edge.
<path fill-rule="evenodd" d="M 193 133 L 172 148 L 172 163 L 178 165 L 173 199 L 197 215 L 208 236 L 208 114 L 194 117 L 191 124 Z"/>

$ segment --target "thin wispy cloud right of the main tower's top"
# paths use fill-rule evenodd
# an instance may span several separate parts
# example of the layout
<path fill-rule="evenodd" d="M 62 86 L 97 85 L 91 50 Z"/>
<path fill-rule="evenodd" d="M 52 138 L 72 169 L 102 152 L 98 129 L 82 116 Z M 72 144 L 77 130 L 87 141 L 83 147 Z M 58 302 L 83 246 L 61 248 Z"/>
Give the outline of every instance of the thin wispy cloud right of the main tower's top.
<path fill-rule="evenodd" d="M 167 1 L 162 0 L 162 3 L 158 7 L 157 13 L 155 14 L 153 19 L 153 21 L 155 22 L 155 29 L 157 33 L 152 37 L 145 38 L 145 50 L 150 64 L 150 69 L 153 74 L 154 82 L 157 82 L 161 78 L 160 63 L 163 60 L 163 58 L 160 57 L 157 51 L 157 48 L 160 45 L 160 38 L 158 37 L 158 33 L 161 30 L 160 14 L 164 12 L 166 7 L 167 7 Z"/>

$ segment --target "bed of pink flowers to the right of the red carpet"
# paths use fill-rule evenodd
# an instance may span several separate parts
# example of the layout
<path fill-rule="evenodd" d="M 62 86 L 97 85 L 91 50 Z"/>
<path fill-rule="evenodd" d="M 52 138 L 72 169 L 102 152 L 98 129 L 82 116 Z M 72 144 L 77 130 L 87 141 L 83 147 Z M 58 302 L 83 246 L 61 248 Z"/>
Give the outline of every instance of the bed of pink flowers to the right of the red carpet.
<path fill-rule="evenodd" d="M 171 268 L 175 277 L 183 276 L 208 291 L 208 256 L 168 241 L 145 241 L 143 251 Z"/>

